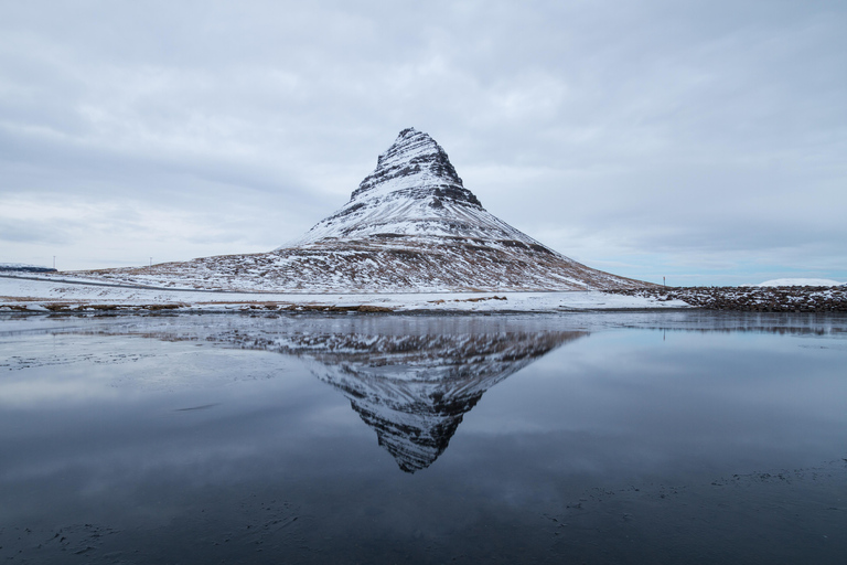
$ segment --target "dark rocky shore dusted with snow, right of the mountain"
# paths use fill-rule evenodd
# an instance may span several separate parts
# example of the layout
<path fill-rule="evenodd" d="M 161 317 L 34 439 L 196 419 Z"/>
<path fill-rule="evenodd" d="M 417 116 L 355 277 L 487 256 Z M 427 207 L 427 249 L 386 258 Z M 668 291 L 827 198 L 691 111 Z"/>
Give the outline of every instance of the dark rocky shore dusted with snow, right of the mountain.
<path fill-rule="evenodd" d="M 708 310 L 847 312 L 847 287 L 645 287 L 608 294 L 682 300 Z"/>

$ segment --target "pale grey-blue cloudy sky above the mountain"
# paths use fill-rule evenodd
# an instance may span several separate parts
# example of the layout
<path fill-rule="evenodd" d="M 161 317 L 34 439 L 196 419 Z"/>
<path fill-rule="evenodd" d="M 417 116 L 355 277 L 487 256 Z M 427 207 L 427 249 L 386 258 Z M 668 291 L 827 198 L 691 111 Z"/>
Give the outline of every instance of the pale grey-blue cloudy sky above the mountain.
<path fill-rule="evenodd" d="M 0 262 L 270 250 L 398 131 L 590 266 L 847 280 L 847 3 L 0 0 Z"/>

